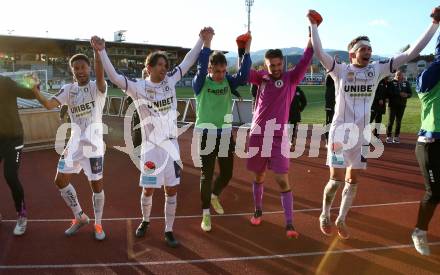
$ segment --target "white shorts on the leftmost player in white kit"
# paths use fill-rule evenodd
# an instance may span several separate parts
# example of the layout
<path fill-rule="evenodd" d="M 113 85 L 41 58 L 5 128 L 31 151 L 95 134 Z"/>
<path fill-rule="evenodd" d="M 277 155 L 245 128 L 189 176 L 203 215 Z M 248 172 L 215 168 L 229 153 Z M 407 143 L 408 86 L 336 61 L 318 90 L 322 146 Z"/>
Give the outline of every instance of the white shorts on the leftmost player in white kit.
<path fill-rule="evenodd" d="M 104 171 L 104 157 L 80 158 L 78 160 L 69 160 L 61 156 L 58 161 L 57 172 L 63 174 L 78 174 L 84 170 L 89 181 L 102 179 Z"/>

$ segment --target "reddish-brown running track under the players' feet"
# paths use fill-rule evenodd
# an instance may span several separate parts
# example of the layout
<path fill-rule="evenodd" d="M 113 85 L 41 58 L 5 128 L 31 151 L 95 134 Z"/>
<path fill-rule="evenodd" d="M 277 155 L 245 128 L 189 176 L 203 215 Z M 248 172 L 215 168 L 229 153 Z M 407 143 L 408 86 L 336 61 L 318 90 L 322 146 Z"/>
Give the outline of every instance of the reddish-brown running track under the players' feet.
<path fill-rule="evenodd" d="M 184 162 L 174 231 L 182 246 L 163 241 L 163 192 L 153 199 L 151 227 L 134 237 L 141 216 L 139 172 L 129 157 L 114 149 L 105 156 L 106 205 L 103 227 L 108 238 L 96 242 L 93 227 L 67 238 L 71 212 L 53 185 L 58 156 L 53 150 L 26 152 L 21 179 L 29 209 L 28 231 L 12 236 L 15 218 L 9 190 L 0 178 L 0 274 L 435 274 L 440 271 L 440 211 L 433 218 L 429 240 L 432 256 L 415 252 L 410 238 L 423 195 L 414 156 L 415 136 L 386 145 L 384 155 L 369 160 L 358 196 L 347 218 L 352 238 L 340 241 L 319 230 L 321 196 L 328 180 L 325 150 L 291 161 L 297 240 L 284 235 L 284 217 L 276 183 L 266 182 L 264 219 L 249 223 L 253 211 L 251 180 L 244 159 L 235 158 L 234 176 L 221 196 L 226 214 L 213 217 L 213 230 L 200 229 L 200 171 L 190 159 L 192 135 L 179 138 Z M 308 150 L 306 149 L 306 154 Z M 91 191 L 83 174 L 74 176 L 86 213 L 93 216 Z M 340 191 L 334 202 L 339 206 Z M 337 209 L 332 211 L 333 219 Z"/>

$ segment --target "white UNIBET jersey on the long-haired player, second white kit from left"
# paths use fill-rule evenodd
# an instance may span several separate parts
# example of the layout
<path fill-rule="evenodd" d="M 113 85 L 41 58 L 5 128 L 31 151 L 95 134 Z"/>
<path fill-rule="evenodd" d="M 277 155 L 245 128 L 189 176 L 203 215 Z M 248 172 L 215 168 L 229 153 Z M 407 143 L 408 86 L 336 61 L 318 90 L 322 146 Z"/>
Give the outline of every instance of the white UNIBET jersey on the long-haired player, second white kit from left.
<path fill-rule="evenodd" d="M 181 78 L 182 72 L 177 66 L 160 83 L 148 79 L 126 82 L 126 93 L 133 99 L 139 114 L 143 141 L 158 145 L 177 138 L 175 86 Z"/>

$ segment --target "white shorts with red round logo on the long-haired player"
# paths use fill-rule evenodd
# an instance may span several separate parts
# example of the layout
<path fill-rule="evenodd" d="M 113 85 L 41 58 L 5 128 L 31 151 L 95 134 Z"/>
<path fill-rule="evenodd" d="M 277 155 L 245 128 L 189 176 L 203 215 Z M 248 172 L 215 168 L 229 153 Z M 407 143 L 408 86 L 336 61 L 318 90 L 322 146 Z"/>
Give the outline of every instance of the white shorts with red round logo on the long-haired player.
<path fill-rule="evenodd" d="M 149 144 L 145 147 L 142 148 L 139 186 L 161 188 L 180 184 L 182 161 L 177 140 L 167 140 L 161 146 Z"/>

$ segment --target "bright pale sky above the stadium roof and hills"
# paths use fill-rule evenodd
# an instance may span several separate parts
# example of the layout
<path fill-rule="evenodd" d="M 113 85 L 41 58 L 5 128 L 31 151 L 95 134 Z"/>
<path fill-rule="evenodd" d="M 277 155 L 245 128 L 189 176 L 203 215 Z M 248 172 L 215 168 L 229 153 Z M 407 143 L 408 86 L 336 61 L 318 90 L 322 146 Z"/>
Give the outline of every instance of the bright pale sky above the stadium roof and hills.
<path fill-rule="evenodd" d="M 428 28 L 433 0 L 255 0 L 251 12 L 252 51 L 305 47 L 308 9 L 321 13 L 323 47 L 345 50 L 368 35 L 373 53 L 392 56 Z M 204 26 L 216 35 L 213 49 L 236 51 L 235 38 L 247 31 L 245 0 L 22 1 L 3 0 L 0 34 L 68 39 L 92 35 L 113 40 L 127 30 L 129 42 L 192 47 Z M 11 30 L 13 30 L 11 32 Z M 434 51 L 434 40 L 423 51 Z"/>

